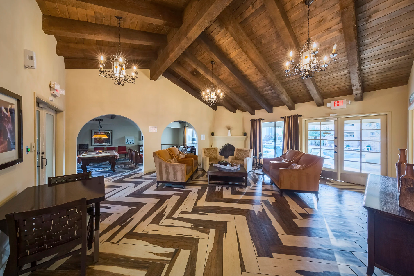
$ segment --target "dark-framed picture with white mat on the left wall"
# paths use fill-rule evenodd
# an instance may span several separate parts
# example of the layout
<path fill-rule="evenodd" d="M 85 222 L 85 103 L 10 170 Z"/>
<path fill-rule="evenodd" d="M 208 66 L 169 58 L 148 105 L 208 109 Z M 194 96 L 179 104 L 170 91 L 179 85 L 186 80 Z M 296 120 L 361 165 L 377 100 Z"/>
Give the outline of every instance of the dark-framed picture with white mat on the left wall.
<path fill-rule="evenodd" d="M 22 97 L 0 87 L 0 170 L 22 162 Z"/>

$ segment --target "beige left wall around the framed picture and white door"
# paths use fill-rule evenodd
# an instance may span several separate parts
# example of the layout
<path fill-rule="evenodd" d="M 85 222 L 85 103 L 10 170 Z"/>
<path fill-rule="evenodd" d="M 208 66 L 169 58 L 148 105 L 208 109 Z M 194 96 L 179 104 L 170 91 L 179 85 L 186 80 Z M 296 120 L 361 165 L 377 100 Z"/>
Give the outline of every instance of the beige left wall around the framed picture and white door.
<path fill-rule="evenodd" d="M 35 142 L 34 92 L 47 101 L 51 96 L 50 81 L 56 81 L 65 88 L 65 67 L 63 57 L 55 54 L 56 39 L 43 33 L 42 13 L 36 1 L 0 1 L 0 10 L 0 86 L 23 98 L 25 147 Z M 36 53 L 36 70 L 24 67 L 25 48 Z M 65 96 L 56 99 L 54 104 L 63 110 Z M 59 156 L 63 156 L 63 152 L 59 151 Z M 0 205 L 34 183 L 35 154 L 31 152 L 23 154 L 23 163 L 0 170 Z"/>

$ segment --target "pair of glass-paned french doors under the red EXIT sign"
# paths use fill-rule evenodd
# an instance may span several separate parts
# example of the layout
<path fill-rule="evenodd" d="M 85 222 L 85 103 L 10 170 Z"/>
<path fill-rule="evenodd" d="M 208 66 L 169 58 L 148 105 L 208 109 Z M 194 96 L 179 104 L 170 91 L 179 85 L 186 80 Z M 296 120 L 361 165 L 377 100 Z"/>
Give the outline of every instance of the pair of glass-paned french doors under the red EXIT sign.
<path fill-rule="evenodd" d="M 306 132 L 306 152 L 325 157 L 322 177 L 366 185 L 387 175 L 387 115 L 306 120 Z"/>

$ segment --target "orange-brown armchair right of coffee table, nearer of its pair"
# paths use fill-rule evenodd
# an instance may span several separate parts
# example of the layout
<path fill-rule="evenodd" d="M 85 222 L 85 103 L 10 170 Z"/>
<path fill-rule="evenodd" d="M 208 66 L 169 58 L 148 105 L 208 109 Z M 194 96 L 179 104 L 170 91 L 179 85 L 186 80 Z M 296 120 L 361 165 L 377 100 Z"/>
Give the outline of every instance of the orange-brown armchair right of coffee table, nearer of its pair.
<path fill-rule="evenodd" d="M 319 199 L 319 179 L 322 173 L 324 157 L 302 154 L 298 161 L 270 162 L 269 176 L 280 191 L 304 192 L 315 194 Z M 291 164 L 306 165 L 305 168 L 288 168 Z"/>

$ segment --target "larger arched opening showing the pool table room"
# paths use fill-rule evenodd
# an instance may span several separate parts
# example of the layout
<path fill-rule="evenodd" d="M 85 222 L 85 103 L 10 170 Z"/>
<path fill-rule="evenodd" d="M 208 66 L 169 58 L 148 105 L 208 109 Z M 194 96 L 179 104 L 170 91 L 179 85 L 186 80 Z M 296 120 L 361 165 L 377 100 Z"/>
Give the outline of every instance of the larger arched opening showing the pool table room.
<path fill-rule="evenodd" d="M 77 136 L 77 173 L 105 177 L 142 173 L 144 137 L 135 122 L 102 115 L 87 122 Z"/>

